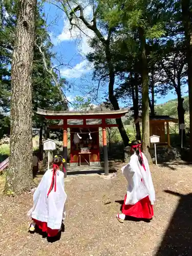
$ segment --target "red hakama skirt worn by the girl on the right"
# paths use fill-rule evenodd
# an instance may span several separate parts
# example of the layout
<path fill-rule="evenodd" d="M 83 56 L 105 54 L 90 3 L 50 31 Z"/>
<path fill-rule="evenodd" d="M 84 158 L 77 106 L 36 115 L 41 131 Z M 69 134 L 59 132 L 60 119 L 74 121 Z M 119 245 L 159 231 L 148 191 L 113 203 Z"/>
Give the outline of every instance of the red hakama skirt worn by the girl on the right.
<path fill-rule="evenodd" d="M 154 216 L 153 205 L 151 205 L 149 197 L 141 199 L 136 204 L 125 204 L 126 195 L 122 205 L 122 214 L 132 216 L 139 219 L 152 219 Z"/>

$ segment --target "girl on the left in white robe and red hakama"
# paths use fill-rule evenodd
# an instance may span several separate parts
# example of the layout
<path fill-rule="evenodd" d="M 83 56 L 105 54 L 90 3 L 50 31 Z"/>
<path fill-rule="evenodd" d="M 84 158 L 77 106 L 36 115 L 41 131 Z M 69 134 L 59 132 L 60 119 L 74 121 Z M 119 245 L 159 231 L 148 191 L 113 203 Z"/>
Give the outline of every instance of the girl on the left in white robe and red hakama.
<path fill-rule="evenodd" d="M 62 164 L 60 161 L 58 163 Z M 57 236 L 66 216 L 67 195 L 64 174 L 59 170 L 59 165 L 53 164 L 53 169 L 47 170 L 42 177 L 33 195 L 33 207 L 28 212 L 33 221 L 29 230 L 33 231 L 38 226 L 43 232 L 47 232 L 48 237 Z"/>

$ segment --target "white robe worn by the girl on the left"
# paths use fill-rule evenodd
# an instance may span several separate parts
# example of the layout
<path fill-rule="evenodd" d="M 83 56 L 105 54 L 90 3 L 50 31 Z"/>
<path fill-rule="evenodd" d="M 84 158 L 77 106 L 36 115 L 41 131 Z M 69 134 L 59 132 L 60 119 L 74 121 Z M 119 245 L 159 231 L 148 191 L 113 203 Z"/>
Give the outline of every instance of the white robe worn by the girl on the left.
<path fill-rule="evenodd" d="M 56 172 L 56 191 L 54 191 L 53 186 L 47 197 L 53 176 L 52 169 L 47 170 L 35 190 L 33 207 L 28 212 L 29 217 L 41 222 L 47 222 L 47 226 L 51 229 L 59 229 L 62 220 L 66 216 L 65 202 L 67 194 L 64 186 L 64 174 L 60 170 Z"/>

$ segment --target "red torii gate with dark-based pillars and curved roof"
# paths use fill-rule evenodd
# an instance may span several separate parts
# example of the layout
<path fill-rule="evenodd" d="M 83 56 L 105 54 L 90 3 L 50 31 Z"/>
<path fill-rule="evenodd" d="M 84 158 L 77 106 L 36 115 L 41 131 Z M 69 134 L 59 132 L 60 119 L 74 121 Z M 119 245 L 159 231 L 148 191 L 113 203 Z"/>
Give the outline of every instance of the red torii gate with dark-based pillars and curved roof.
<path fill-rule="evenodd" d="M 82 129 L 99 129 L 102 127 L 102 138 L 103 138 L 103 158 L 104 158 L 104 174 L 109 175 L 109 163 L 108 163 L 108 148 L 106 143 L 106 127 L 118 127 L 118 124 L 108 124 L 106 119 L 116 119 L 124 116 L 129 110 L 121 109 L 114 111 L 49 111 L 37 109 L 36 114 L 44 116 L 47 119 L 62 120 L 63 124 L 50 125 L 50 129 L 63 129 L 63 158 L 67 159 L 67 146 L 68 146 L 68 135 L 67 129 L 70 128 L 82 128 Z M 82 120 L 82 124 L 68 124 L 68 120 Z M 100 119 L 101 122 L 94 124 L 87 124 L 86 120 L 89 119 Z M 65 163 L 66 175 L 67 176 L 67 161 Z"/>

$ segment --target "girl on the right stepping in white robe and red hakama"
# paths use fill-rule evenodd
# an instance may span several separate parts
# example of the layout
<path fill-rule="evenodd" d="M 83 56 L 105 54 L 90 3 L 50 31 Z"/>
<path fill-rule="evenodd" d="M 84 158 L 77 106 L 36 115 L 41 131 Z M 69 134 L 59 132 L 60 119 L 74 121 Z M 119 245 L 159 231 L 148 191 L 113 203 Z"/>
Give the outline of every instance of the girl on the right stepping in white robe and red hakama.
<path fill-rule="evenodd" d="M 129 164 L 121 169 L 128 185 L 122 205 L 122 214 L 116 216 L 120 222 L 124 221 L 125 216 L 149 220 L 154 216 L 155 190 L 148 161 L 141 152 L 140 146 L 141 144 L 137 141 L 132 144 L 134 154 Z"/>

